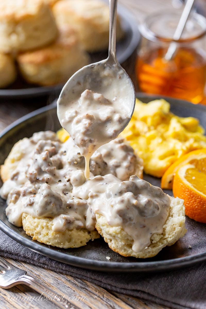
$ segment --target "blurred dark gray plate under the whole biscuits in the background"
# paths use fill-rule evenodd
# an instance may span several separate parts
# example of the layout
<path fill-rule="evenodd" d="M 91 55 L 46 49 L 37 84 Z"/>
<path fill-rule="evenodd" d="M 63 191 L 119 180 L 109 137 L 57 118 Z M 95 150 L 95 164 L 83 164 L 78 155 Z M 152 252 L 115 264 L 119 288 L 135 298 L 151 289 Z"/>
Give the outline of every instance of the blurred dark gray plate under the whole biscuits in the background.
<path fill-rule="evenodd" d="M 117 59 L 120 64 L 123 64 L 132 53 L 137 49 L 140 41 L 140 33 L 137 23 L 132 14 L 124 7 L 118 6 L 118 14 L 121 17 L 122 28 L 125 32 L 125 37 L 116 45 Z M 91 63 L 106 59 L 108 51 L 90 54 Z M 49 95 L 54 93 L 56 96 L 60 94 L 63 84 L 48 87 L 38 87 L 36 85 L 27 84 L 21 76 L 18 76 L 16 81 L 6 89 L 0 89 L 0 98 L 3 99 L 21 99 Z M 55 96 L 55 97 L 56 97 Z"/>

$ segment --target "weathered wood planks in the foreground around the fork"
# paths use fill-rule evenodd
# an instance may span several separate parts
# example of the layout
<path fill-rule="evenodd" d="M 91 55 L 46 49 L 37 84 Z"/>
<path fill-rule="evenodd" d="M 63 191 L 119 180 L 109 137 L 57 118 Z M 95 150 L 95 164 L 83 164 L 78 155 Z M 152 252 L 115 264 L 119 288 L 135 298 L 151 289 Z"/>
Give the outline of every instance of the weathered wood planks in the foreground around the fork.
<path fill-rule="evenodd" d="M 107 291 L 86 280 L 27 263 L 6 260 L 26 270 L 28 275 L 49 286 L 54 292 L 57 291 L 80 309 L 169 309 L 136 297 Z M 25 285 L 18 285 L 8 290 L 0 289 L 0 308 L 22 309 L 25 306 L 29 309 L 57 308 L 57 305 L 40 297 L 38 293 Z"/>

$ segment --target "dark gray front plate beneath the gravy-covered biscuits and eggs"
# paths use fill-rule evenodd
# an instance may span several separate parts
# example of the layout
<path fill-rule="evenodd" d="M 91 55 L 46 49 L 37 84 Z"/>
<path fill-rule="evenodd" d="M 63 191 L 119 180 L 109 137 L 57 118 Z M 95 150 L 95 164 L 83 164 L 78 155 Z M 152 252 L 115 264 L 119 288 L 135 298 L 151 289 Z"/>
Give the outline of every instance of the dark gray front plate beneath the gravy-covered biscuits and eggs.
<path fill-rule="evenodd" d="M 138 95 L 139 99 L 149 102 L 158 98 L 154 96 Z M 171 104 L 171 111 L 179 116 L 194 116 L 200 119 L 201 125 L 206 128 L 206 107 L 193 105 L 185 101 L 167 98 Z M 34 132 L 60 128 L 56 115 L 56 103 L 40 108 L 39 110 L 22 117 L 10 125 L 0 135 L 0 164 L 4 162 L 15 142 L 23 137 L 31 137 Z M 160 186 L 160 180 L 145 175 L 154 185 Z M 171 191 L 167 191 L 172 195 Z M 206 224 L 195 222 L 186 218 L 187 233 L 173 246 L 164 248 L 157 256 L 150 259 L 136 259 L 123 257 L 113 252 L 102 238 L 90 241 L 86 246 L 76 249 L 59 249 L 49 247 L 32 240 L 22 228 L 8 222 L 5 216 L 6 202 L 0 198 L 0 229 L 11 238 L 27 248 L 70 265 L 102 271 L 121 272 L 151 272 L 169 270 L 192 265 L 206 260 Z M 191 248 L 188 248 L 191 245 Z M 110 260 L 106 260 L 110 256 Z"/>

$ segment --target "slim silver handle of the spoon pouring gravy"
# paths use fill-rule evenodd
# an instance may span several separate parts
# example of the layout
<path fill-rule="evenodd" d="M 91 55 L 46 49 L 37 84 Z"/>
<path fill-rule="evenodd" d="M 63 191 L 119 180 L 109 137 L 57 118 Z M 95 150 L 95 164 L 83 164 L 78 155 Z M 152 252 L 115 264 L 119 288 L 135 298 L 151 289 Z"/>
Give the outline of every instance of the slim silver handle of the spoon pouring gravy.
<path fill-rule="evenodd" d="M 108 61 L 116 63 L 116 15 L 117 0 L 109 0 L 109 56 Z"/>

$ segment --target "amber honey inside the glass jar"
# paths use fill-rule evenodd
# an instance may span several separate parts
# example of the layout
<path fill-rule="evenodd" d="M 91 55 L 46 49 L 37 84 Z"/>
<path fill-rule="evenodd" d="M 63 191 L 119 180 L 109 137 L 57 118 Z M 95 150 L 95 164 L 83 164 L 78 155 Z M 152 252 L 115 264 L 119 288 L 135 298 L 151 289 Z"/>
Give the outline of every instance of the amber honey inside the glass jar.
<path fill-rule="evenodd" d="M 137 57 L 136 74 L 141 91 L 185 99 L 194 104 L 204 98 L 206 58 L 198 49 L 180 47 L 166 61 L 166 48 L 149 49 Z"/>

